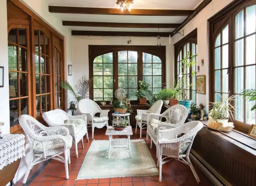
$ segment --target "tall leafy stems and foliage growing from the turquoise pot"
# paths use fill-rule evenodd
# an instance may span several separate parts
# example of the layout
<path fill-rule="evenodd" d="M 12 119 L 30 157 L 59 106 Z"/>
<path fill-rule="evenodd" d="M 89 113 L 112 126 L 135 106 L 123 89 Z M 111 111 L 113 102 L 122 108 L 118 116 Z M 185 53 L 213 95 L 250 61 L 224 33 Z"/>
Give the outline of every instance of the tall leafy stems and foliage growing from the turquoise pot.
<path fill-rule="evenodd" d="M 178 87 L 181 86 L 181 90 L 182 90 L 182 100 L 187 100 L 187 88 L 193 86 L 193 84 L 187 84 L 187 69 L 190 69 L 190 67 L 192 67 L 193 65 L 196 65 L 196 56 L 197 55 L 190 55 L 190 51 L 187 52 L 186 57 L 183 58 L 182 60 L 182 74 L 179 75 L 179 77 L 181 77 L 181 79 L 179 80 Z M 192 71 L 190 73 L 190 77 L 194 77 L 195 76 L 195 71 Z"/>

